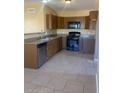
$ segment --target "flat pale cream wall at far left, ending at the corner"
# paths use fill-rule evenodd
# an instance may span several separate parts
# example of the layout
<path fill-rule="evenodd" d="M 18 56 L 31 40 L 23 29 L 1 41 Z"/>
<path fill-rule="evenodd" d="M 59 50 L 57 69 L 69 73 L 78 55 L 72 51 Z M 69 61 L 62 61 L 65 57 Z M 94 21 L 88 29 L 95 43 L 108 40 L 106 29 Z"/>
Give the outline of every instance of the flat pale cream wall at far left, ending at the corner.
<path fill-rule="evenodd" d="M 35 10 L 29 12 L 28 9 L 31 8 Z M 25 2 L 24 33 L 37 33 L 44 29 L 43 8 L 44 5 L 41 3 Z"/>

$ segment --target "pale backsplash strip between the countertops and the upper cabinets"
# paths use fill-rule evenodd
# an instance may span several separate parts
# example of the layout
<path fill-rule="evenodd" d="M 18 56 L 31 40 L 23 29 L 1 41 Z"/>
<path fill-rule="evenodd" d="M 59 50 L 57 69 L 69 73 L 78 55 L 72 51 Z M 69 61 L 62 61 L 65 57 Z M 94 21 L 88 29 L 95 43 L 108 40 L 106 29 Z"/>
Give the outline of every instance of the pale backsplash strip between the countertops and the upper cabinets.
<path fill-rule="evenodd" d="M 24 34 L 24 39 L 28 38 L 35 38 L 35 37 L 45 37 L 45 36 L 50 36 L 50 35 L 57 35 L 57 34 L 65 34 L 67 35 L 69 32 L 81 32 L 81 35 L 83 36 L 89 36 L 89 35 L 95 35 L 96 31 L 95 30 L 88 30 L 88 29 L 53 29 L 53 30 L 47 30 L 43 32 L 38 32 L 38 33 L 28 33 Z"/>

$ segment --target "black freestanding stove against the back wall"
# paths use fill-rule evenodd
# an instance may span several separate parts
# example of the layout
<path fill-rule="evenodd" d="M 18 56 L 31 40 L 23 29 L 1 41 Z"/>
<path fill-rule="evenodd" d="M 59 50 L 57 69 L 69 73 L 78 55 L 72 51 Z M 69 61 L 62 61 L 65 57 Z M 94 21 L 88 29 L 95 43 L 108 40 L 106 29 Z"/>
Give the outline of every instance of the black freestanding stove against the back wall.
<path fill-rule="evenodd" d="M 69 32 L 67 36 L 67 50 L 79 51 L 80 32 Z"/>

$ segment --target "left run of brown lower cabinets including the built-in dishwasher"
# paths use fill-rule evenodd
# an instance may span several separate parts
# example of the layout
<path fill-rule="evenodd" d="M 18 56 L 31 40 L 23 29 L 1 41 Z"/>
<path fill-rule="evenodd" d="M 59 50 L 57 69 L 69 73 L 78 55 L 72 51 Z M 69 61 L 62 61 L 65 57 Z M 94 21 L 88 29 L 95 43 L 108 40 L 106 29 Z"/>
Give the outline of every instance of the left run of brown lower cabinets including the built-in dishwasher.
<path fill-rule="evenodd" d="M 37 69 L 61 49 L 62 37 L 53 39 L 44 44 L 25 44 L 24 66 Z"/>

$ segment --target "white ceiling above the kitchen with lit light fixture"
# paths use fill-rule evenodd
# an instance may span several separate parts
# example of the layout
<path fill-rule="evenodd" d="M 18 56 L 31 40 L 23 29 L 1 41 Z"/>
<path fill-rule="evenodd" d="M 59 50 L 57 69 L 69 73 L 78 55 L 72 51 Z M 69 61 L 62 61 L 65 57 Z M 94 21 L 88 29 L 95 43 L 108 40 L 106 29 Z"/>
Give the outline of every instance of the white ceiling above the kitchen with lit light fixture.
<path fill-rule="evenodd" d="M 25 2 L 40 2 L 40 0 L 25 0 Z M 64 0 L 49 0 L 46 4 L 56 11 L 92 10 L 98 8 L 98 0 L 72 0 L 66 4 Z"/>

